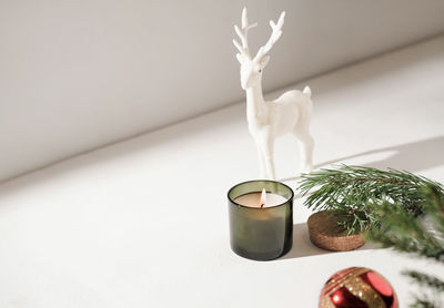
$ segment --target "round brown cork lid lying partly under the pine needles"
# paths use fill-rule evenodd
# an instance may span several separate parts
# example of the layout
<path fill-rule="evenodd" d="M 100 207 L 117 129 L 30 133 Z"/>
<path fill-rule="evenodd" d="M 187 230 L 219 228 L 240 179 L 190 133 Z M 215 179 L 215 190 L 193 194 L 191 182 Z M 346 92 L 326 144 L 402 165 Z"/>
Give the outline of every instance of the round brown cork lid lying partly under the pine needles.
<path fill-rule="evenodd" d="M 347 251 L 365 244 L 362 234 L 346 235 L 329 211 L 321 211 L 309 217 L 310 240 L 320 248 L 333 251 Z"/>

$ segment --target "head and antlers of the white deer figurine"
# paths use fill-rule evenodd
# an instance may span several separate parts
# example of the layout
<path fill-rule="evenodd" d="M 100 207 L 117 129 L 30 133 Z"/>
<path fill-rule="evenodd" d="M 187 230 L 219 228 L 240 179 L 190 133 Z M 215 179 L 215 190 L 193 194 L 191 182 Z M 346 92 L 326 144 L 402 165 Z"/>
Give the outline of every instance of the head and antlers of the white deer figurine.
<path fill-rule="evenodd" d="M 285 12 L 282 12 L 278 23 L 274 23 L 273 20 L 270 20 L 270 25 L 272 29 L 270 39 L 266 44 L 259 49 L 256 55 L 252 59 L 246 34 L 249 30 L 256 27 L 258 23 L 255 22 L 253 24 L 249 24 L 249 20 L 246 19 L 246 8 L 243 8 L 242 28 L 240 29 L 238 25 L 234 25 L 234 30 L 241 39 L 242 45 L 236 40 L 233 40 L 234 45 L 239 50 L 236 58 L 239 63 L 241 63 L 241 86 L 243 90 L 246 90 L 261 81 L 263 69 L 266 66 L 270 60 L 270 57 L 266 55 L 266 53 L 282 35 L 281 29 L 284 24 L 284 17 Z"/>

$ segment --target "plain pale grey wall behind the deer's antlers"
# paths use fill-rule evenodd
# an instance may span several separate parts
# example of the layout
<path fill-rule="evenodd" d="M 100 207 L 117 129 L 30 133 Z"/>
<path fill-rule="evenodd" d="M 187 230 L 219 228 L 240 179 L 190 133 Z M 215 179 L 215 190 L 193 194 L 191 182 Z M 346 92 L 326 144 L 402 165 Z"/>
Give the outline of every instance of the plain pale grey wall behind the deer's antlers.
<path fill-rule="evenodd" d="M 265 90 L 444 31 L 442 0 L 0 0 L 0 179 L 241 101 L 243 6 L 253 50 L 287 11 Z"/>

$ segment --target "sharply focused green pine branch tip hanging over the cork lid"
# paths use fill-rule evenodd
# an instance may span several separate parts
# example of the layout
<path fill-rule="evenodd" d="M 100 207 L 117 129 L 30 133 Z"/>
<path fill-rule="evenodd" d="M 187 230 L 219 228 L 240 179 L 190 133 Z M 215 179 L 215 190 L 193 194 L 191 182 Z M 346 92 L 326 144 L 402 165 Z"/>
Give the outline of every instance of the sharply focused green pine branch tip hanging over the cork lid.
<path fill-rule="evenodd" d="M 352 234 L 379 225 L 380 216 L 369 204 L 389 202 L 414 216 L 420 215 L 424 195 L 418 188 L 426 185 L 443 192 L 438 183 L 410 172 L 342 165 L 302 175 L 297 192 L 309 195 L 305 206 L 331 209 L 339 225 Z"/>

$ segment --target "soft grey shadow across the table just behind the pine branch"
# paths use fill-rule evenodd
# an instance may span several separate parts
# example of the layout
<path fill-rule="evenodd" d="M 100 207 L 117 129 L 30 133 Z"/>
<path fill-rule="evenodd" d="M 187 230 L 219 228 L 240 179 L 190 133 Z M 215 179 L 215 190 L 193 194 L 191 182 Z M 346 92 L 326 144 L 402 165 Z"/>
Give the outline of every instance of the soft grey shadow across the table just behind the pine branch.
<path fill-rule="evenodd" d="M 398 144 L 377 150 L 365 151 L 362 153 L 344 156 L 336 160 L 326 161 L 314 166 L 321 168 L 331 164 L 342 163 L 346 160 L 356 158 L 360 156 L 377 154 L 383 152 L 394 152 L 387 158 L 363 164 L 363 166 L 374 168 L 395 168 L 406 170 L 410 172 L 418 172 L 444 164 L 444 136 L 416 141 L 412 143 Z M 280 181 L 287 182 L 297 179 L 299 177 L 287 177 Z"/>

